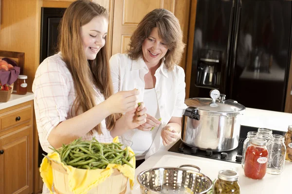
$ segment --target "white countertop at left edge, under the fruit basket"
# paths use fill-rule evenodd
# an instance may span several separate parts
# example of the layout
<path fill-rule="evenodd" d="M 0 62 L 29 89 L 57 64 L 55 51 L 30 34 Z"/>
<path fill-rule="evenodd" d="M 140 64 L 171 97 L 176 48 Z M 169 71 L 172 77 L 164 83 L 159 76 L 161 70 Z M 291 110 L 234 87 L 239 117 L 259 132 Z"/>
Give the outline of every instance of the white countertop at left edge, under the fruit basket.
<path fill-rule="evenodd" d="M 0 110 L 6 109 L 11 106 L 21 104 L 34 99 L 34 93 L 28 92 L 26 95 L 17 95 L 12 93 L 8 102 L 0 102 Z"/>

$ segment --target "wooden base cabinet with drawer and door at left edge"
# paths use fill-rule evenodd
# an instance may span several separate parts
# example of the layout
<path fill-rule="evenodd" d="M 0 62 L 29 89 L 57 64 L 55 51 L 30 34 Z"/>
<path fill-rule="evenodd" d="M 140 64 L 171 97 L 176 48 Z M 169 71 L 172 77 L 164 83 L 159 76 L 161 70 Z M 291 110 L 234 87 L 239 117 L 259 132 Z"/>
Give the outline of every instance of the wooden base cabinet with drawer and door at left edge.
<path fill-rule="evenodd" d="M 33 193 L 33 101 L 0 110 L 0 194 Z"/>

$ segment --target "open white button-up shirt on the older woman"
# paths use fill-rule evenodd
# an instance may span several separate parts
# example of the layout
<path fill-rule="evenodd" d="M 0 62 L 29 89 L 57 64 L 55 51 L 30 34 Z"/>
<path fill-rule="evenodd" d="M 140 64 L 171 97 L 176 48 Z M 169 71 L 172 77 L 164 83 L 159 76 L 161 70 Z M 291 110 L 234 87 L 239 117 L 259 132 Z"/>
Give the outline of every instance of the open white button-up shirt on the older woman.
<path fill-rule="evenodd" d="M 110 58 L 110 68 L 114 93 L 136 88 L 140 90 L 138 100 L 142 102 L 145 90 L 144 76 L 149 72 L 143 58 L 140 57 L 133 61 L 128 57 L 128 54 L 118 53 Z M 184 104 L 185 76 L 182 67 L 174 65 L 172 71 L 167 71 L 164 62 L 162 62 L 154 76 L 156 78 L 155 91 L 162 120 L 157 135 L 146 154 L 146 158 L 163 146 L 160 132 L 167 125 L 171 117 L 182 117 L 184 110 L 187 108 Z M 131 141 L 132 136 L 133 130 L 128 130 L 122 136 L 122 140 L 126 140 L 124 144 Z"/>

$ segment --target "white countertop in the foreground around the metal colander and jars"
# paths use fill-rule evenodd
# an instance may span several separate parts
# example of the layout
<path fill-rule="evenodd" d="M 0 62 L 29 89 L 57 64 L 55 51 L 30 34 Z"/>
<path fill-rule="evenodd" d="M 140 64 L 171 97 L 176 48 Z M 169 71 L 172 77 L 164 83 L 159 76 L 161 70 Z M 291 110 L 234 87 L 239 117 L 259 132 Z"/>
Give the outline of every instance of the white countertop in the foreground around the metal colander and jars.
<path fill-rule="evenodd" d="M 218 178 L 219 170 L 236 170 L 239 173 L 240 194 L 288 194 L 290 192 L 292 162 L 285 162 L 284 171 L 281 175 L 267 173 L 263 179 L 253 180 L 244 176 L 241 164 L 168 152 L 167 150 L 170 147 L 164 147 L 136 169 L 133 190 L 130 191 L 127 187 L 126 194 L 140 194 L 140 185 L 137 181 L 137 176 L 140 172 L 153 167 L 177 167 L 182 164 L 199 166 L 201 173 L 211 178 L 211 180 Z"/>

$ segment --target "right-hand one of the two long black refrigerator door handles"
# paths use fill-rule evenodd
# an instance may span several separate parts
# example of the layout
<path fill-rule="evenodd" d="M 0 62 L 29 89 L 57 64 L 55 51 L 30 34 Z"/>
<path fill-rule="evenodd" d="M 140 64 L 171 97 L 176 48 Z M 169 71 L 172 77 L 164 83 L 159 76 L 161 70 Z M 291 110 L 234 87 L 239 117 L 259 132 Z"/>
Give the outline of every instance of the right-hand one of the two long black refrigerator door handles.
<path fill-rule="evenodd" d="M 236 29 L 235 29 L 235 41 L 234 41 L 234 48 L 232 50 L 231 55 L 231 66 L 230 66 L 230 90 L 229 90 L 229 97 L 232 97 L 232 88 L 233 88 L 233 80 L 235 76 L 235 63 L 236 63 L 236 52 L 237 52 L 237 42 L 238 42 L 238 31 L 239 31 L 239 24 L 240 24 L 240 18 L 241 18 L 241 7 L 238 7 L 238 19 L 236 21 Z"/>

